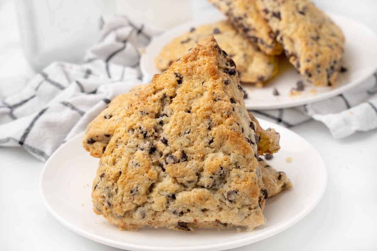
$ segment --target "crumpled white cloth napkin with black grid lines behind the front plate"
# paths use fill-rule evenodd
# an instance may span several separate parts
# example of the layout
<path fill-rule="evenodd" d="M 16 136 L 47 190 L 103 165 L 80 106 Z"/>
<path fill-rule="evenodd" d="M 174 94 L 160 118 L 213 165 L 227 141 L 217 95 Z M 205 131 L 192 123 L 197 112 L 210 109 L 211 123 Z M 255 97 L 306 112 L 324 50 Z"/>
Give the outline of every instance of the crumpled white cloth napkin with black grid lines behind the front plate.
<path fill-rule="evenodd" d="M 89 48 L 83 64 L 54 62 L 0 102 L 0 146 L 22 146 L 46 161 L 84 131 L 113 97 L 143 82 L 140 53 L 157 33 L 123 16 L 101 18 L 100 40 Z M 287 127 L 313 118 L 341 138 L 377 128 L 376 107 L 377 75 L 357 90 L 321 102 L 253 112 Z"/>

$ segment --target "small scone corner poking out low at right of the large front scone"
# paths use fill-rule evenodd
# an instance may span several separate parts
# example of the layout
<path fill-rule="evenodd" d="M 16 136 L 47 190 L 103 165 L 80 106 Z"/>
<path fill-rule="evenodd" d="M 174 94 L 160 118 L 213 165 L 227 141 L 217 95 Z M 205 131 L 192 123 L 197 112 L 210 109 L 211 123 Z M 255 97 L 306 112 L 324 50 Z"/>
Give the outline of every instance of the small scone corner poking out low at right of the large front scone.
<path fill-rule="evenodd" d="M 260 157 L 258 160 L 268 198 L 292 187 L 292 182 L 288 179 L 285 172 L 278 172 Z"/>

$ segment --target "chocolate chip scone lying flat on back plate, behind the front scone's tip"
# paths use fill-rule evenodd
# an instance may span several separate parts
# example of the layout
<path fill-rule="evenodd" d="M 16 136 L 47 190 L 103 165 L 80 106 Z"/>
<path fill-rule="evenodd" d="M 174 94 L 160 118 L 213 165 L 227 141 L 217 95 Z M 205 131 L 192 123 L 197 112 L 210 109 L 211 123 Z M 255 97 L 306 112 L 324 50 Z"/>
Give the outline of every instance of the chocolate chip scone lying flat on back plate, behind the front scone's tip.
<path fill-rule="evenodd" d="M 245 40 L 228 21 L 219 21 L 192 27 L 183 35 L 174 38 L 162 48 L 155 58 L 156 66 L 166 70 L 187 50 L 195 47 L 204 38 L 213 35 L 219 46 L 225 50 L 237 65 L 238 77 L 241 82 L 263 84 L 277 74 L 277 60 L 268 56 L 259 48 Z"/>

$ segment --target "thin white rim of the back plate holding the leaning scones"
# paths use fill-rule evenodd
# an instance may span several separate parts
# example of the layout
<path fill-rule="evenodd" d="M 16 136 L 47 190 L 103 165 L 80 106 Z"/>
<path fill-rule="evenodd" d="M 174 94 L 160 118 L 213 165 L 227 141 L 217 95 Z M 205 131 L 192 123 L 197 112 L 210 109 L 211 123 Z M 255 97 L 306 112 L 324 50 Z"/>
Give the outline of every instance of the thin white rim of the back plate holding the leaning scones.
<path fill-rule="evenodd" d="M 210 11 L 205 11 L 205 12 L 215 13 L 217 11 L 216 10 L 210 10 Z M 376 40 L 377 40 L 377 33 L 375 33 L 369 26 L 366 26 L 362 22 L 355 20 L 353 18 L 347 17 L 345 15 L 336 14 L 336 13 L 333 13 L 333 12 L 326 12 L 326 14 L 329 15 L 330 17 L 346 19 L 347 21 L 351 21 L 351 22 L 357 23 L 357 25 L 363 26 L 363 28 L 368 30 L 368 32 L 370 32 L 371 34 L 373 34 L 375 36 Z M 225 20 L 226 17 L 224 16 L 223 19 Z M 178 27 L 180 27 L 180 26 L 187 26 L 188 24 L 194 23 L 198 20 L 201 20 L 201 18 L 194 18 L 192 20 L 185 21 L 184 23 L 178 24 L 177 26 L 172 27 L 171 29 L 165 30 L 163 33 L 152 38 L 150 43 L 145 48 L 145 53 L 143 53 L 140 57 L 140 70 L 141 70 L 141 73 L 143 74 L 143 76 L 149 76 L 150 75 L 150 73 L 147 72 L 147 70 L 146 70 L 146 62 L 147 62 L 147 56 L 146 55 L 147 55 L 148 51 L 151 50 L 149 48 L 150 48 L 150 45 L 153 43 L 153 41 L 155 41 L 156 39 L 162 38 L 165 33 L 170 32 L 170 30 L 172 30 L 172 29 L 178 29 Z M 377 50 L 376 50 L 376 52 L 377 52 Z M 371 77 L 375 71 L 377 71 L 377 64 L 374 67 L 371 67 L 371 70 L 368 71 L 367 73 L 365 73 L 365 75 L 362 78 L 359 78 L 356 81 L 353 81 L 351 83 L 342 85 L 339 88 L 336 88 L 336 89 L 330 90 L 328 92 L 322 93 L 318 96 L 307 97 L 304 100 L 298 99 L 298 100 L 292 101 L 291 103 L 285 103 L 285 104 L 282 104 L 282 105 L 265 105 L 265 104 L 261 104 L 261 105 L 257 105 L 257 106 L 256 105 L 254 105 L 254 106 L 253 105 L 246 105 L 246 108 L 248 110 L 272 110 L 272 109 L 292 108 L 292 107 L 297 107 L 297 106 L 302 106 L 302 105 L 307 105 L 307 104 L 319 102 L 319 101 L 328 99 L 330 97 L 337 96 L 341 93 L 345 93 L 346 91 L 352 90 L 353 88 L 356 88 L 358 85 L 362 84 L 369 77 Z"/>

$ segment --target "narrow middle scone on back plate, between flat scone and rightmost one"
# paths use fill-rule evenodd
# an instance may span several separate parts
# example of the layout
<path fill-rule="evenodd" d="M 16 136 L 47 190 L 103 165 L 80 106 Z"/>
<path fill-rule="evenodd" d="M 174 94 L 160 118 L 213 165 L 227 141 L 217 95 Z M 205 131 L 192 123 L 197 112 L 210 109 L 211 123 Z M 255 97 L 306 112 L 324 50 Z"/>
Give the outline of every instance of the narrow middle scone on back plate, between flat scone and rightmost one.
<path fill-rule="evenodd" d="M 223 12 L 233 26 L 252 43 L 268 55 L 280 55 L 282 46 L 276 41 L 263 15 L 259 13 L 255 0 L 208 0 Z"/>

